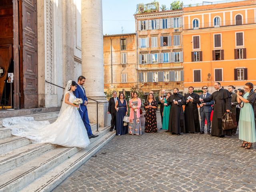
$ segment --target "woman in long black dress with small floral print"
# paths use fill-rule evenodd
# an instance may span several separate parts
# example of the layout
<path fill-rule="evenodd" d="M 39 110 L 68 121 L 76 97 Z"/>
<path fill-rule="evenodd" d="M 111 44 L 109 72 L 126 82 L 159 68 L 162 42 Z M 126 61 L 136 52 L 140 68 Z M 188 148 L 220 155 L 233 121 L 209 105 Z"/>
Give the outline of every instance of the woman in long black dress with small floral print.
<path fill-rule="evenodd" d="M 156 133 L 156 109 L 157 102 L 152 93 L 148 94 L 148 99 L 144 103 L 145 114 L 145 132 L 146 133 Z"/>

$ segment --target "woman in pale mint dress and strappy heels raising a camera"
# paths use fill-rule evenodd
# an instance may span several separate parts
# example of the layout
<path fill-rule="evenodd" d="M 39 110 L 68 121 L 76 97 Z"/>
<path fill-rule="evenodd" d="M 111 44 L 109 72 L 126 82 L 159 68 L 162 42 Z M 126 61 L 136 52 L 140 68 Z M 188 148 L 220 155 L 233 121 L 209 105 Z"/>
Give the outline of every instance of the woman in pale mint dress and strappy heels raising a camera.
<path fill-rule="evenodd" d="M 253 104 L 256 98 L 256 93 L 253 92 L 253 84 L 246 83 L 244 85 L 246 91 L 243 96 L 240 96 L 239 90 L 237 90 L 237 101 L 238 103 L 243 102 L 240 110 L 239 117 L 239 139 L 243 140 L 241 147 L 250 149 L 252 143 L 256 142 L 256 130 L 254 121 Z"/>

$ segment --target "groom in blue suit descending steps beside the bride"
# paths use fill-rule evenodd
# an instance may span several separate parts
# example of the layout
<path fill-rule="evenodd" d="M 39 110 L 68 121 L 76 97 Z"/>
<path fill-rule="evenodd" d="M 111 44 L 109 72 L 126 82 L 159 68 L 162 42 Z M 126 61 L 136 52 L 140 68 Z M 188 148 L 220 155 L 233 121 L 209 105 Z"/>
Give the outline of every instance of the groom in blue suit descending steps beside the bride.
<path fill-rule="evenodd" d="M 76 87 L 76 90 L 74 91 L 74 95 L 76 96 L 76 98 L 81 98 L 83 100 L 83 103 L 80 105 L 81 109 L 79 109 L 79 113 L 84 122 L 84 126 L 87 130 L 87 134 L 90 139 L 90 138 L 98 137 L 98 135 L 92 134 L 92 129 L 90 126 L 90 122 L 89 122 L 89 118 L 88 118 L 88 111 L 87 111 L 87 106 L 86 106 L 88 104 L 88 100 L 87 100 L 85 90 L 83 87 L 84 82 L 85 82 L 85 77 L 79 76 L 78 82 L 77 82 L 77 87 Z"/>

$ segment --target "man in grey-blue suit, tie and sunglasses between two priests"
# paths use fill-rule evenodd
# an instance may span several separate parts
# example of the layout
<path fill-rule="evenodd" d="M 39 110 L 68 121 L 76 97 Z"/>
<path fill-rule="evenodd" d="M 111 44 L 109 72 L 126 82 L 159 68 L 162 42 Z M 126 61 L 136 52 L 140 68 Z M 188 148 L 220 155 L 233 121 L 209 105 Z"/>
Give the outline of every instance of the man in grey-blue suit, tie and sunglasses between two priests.
<path fill-rule="evenodd" d="M 211 112 L 212 112 L 212 105 L 214 104 L 214 101 L 211 100 L 209 102 L 203 102 L 204 99 L 209 98 L 211 96 L 210 93 L 208 93 L 208 87 L 207 86 L 203 86 L 202 87 L 203 90 L 203 94 L 200 94 L 200 117 L 201 117 L 201 132 L 200 134 L 204 134 L 204 124 L 205 124 L 205 119 L 207 122 L 207 134 L 210 135 L 211 132 Z"/>

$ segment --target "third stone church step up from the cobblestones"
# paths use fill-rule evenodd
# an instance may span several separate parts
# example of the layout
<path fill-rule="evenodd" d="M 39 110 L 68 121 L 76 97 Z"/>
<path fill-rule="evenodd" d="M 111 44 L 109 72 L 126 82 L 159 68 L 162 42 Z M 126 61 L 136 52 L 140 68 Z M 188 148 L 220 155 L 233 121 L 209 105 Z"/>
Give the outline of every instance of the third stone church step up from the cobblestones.
<path fill-rule="evenodd" d="M 42 155 L 44 152 L 56 148 L 58 145 L 44 144 L 29 144 L 20 148 L 14 149 L 6 154 L 0 155 L 0 174 L 16 168 L 21 164 Z"/>

